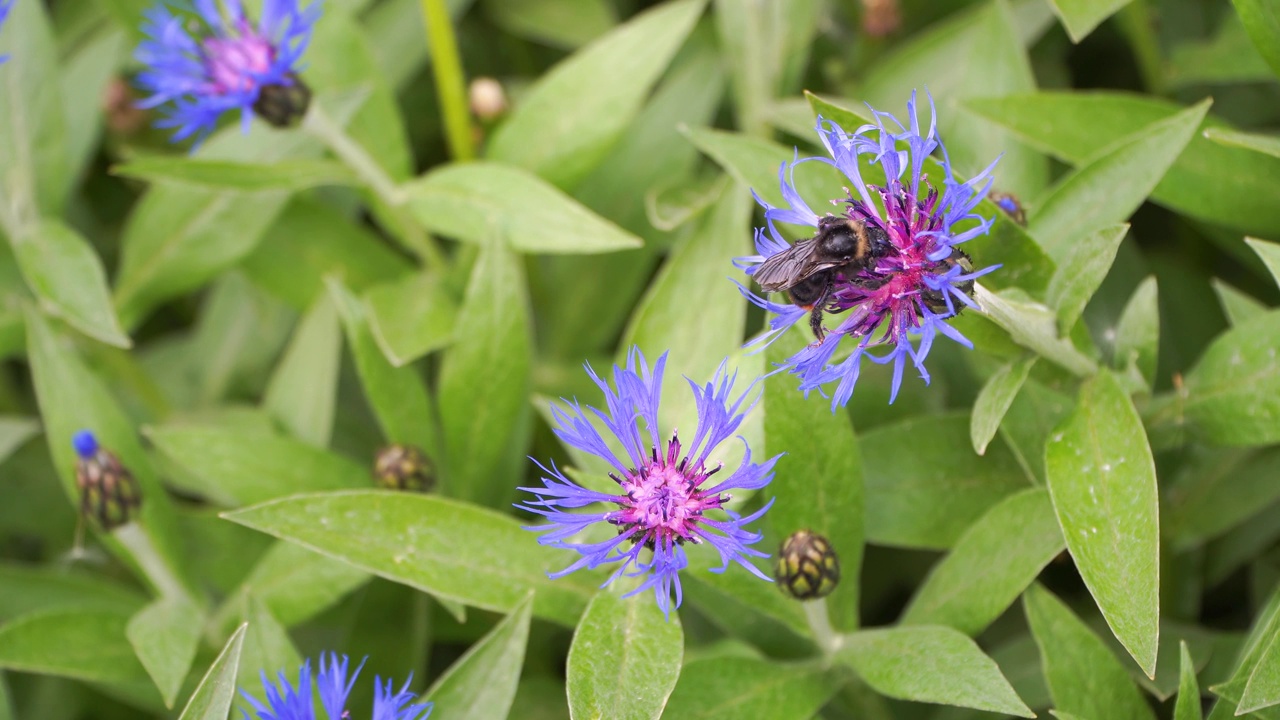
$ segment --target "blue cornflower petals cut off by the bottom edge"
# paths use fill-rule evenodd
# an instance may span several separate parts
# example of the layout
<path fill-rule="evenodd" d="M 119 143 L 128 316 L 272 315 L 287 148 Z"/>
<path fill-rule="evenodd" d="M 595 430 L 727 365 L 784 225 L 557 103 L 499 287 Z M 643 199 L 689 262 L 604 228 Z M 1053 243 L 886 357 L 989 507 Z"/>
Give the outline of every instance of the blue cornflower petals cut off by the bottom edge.
<path fill-rule="evenodd" d="M 316 691 L 320 693 L 320 705 L 324 707 L 326 720 L 353 720 L 347 711 L 347 696 L 356 684 L 364 662 L 347 678 L 348 659 L 343 655 L 330 652 L 329 657 L 320 656 L 320 673 L 316 675 Z M 266 705 L 250 696 L 244 691 L 241 694 L 253 706 L 257 720 L 317 720 L 315 705 L 311 700 L 311 661 L 307 660 L 298 670 L 297 684 L 289 683 L 282 670 L 279 685 L 273 684 L 266 673 L 262 673 L 262 691 L 266 693 Z M 431 715 L 431 703 L 415 703 L 413 693 L 408 692 L 408 684 L 413 682 L 412 674 L 404 687 L 396 692 L 390 680 L 383 684 L 381 678 L 374 679 L 374 714 L 370 720 L 426 720 Z M 248 720 L 248 712 L 244 714 Z"/>

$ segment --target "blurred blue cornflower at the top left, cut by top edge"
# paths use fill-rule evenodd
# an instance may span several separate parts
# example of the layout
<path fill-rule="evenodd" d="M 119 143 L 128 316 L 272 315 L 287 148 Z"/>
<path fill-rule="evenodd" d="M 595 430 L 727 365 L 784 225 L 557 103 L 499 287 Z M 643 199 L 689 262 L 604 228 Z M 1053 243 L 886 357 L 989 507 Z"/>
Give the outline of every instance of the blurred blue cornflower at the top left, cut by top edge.
<path fill-rule="evenodd" d="M 202 140 L 229 110 L 241 111 L 246 131 L 253 111 L 276 127 L 306 113 L 311 92 L 297 73 L 319 3 L 264 0 L 256 26 L 241 0 L 160 0 L 145 17 L 147 38 L 134 56 L 146 65 L 138 85 L 151 95 L 140 106 L 166 105 L 156 127 L 175 128 L 175 142 Z"/>

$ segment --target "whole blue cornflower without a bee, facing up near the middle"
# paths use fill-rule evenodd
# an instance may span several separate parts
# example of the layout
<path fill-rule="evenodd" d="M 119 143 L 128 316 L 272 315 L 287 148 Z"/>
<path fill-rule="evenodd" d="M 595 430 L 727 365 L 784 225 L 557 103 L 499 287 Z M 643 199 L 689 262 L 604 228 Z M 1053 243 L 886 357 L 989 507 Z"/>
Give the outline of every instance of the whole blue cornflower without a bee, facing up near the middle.
<path fill-rule="evenodd" d="M 652 589 L 658 606 L 664 614 L 669 614 L 672 589 L 676 593 L 676 607 L 680 607 L 682 597 L 680 570 L 689 565 L 685 543 L 698 544 L 705 541 L 714 547 L 723 561 L 723 566 L 713 569 L 714 571 L 723 573 L 732 561 L 769 580 L 748 560 L 748 556 L 768 555 L 748 547 L 759 542 L 762 534 L 748 530 L 746 525 L 764 515 L 773 501 L 746 518 L 726 510 L 724 505 L 730 501 L 726 491 L 759 489 L 769 484 L 778 456 L 765 462 L 751 462 L 751 448 L 746 447 L 741 465 L 722 482 L 708 487 L 710 477 L 722 469 L 722 465 L 708 468 L 708 459 L 737 432 L 742 418 L 754 407 L 758 398 L 748 402 L 748 396 L 753 393 L 755 383 L 732 397 L 737 375 L 728 375 L 723 364 L 705 386 L 689 380 L 698 405 L 694 441 L 686 446 L 678 436 L 672 434 L 664 445 L 658 438 L 658 405 L 666 365 L 664 352 L 650 372 L 644 355 L 637 348 L 631 348 L 626 369 L 613 368 L 613 387 L 600 379 L 590 365 L 586 366 L 586 373 L 604 393 L 608 409 L 586 410 L 617 438 L 626 451 L 625 456 L 609 447 L 577 401 L 566 401 L 567 407 L 552 406 L 556 436 L 612 465 L 614 471 L 609 473 L 609 478 L 618 484 L 617 493 L 588 489 L 566 478 L 554 462 L 550 469 L 539 462 L 538 466 L 545 473 L 543 487 L 520 488 L 534 493 L 538 500 L 530 500 L 518 507 L 550 521 L 526 528 L 545 532 L 538 538 L 539 543 L 573 550 L 581 555 L 568 568 L 552 573 L 552 578 L 561 578 L 581 568 L 621 561 L 604 585 L 623 573 L 627 577 L 644 575 L 646 579 L 640 587 L 625 597 Z M 639 420 L 644 420 L 644 433 Z M 741 436 L 739 439 L 742 439 Z M 745 446 L 746 441 L 742 439 L 742 443 Z M 598 509 L 595 512 L 566 511 L 595 503 L 612 507 Z M 616 527 L 616 537 L 604 542 L 577 539 L 580 532 L 596 524 Z M 641 559 L 641 555 L 646 559 Z"/>

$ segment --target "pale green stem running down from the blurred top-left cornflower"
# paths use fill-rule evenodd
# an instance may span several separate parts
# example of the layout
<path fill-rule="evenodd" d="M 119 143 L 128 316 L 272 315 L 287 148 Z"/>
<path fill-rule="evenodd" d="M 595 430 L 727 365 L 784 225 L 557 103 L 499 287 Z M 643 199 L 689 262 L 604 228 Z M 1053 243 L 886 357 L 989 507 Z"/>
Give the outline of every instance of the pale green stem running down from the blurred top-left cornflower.
<path fill-rule="evenodd" d="M 320 108 L 319 102 L 311 104 L 311 109 L 302 120 L 302 128 L 332 150 L 387 205 L 396 224 L 399 225 L 398 229 L 403 236 L 404 245 L 421 258 L 428 268 L 444 268 L 444 255 L 440 254 L 440 249 L 404 208 L 404 202 L 408 200 L 404 190 L 387 174 L 387 170 L 369 155 L 369 151 L 352 140 L 342 126 Z"/>

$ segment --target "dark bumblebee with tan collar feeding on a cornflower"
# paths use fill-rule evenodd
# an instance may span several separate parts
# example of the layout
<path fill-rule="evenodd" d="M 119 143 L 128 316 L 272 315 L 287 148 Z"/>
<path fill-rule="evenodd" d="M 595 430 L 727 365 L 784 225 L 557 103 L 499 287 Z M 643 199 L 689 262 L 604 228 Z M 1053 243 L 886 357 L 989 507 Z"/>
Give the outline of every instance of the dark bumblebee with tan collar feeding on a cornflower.
<path fill-rule="evenodd" d="M 893 249 L 888 233 L 851 218 L 827 215 L 818 232 L 762 263 L 755 282 L 768 292 L 786 291 L 791 302 L 810 311 L 809 327 L 822 342 L 822 314 L 841 273 L 870 268 Z"/>

